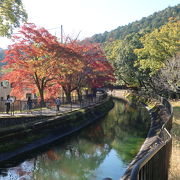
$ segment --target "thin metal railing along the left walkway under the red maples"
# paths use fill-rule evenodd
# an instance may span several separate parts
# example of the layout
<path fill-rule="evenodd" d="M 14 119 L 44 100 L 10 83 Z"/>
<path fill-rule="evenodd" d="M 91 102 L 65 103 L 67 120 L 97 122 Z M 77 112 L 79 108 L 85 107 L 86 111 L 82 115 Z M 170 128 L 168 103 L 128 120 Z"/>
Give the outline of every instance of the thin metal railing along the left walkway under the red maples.
<path fill-rule="evenodd" d="M 66 97 L 60 97 L 61 100 L 61 106 L 60 106 L 60 112 L 64 113 L 67 111 L 73 111 L 74 109 L 78 108 L 84 108 L 88 106 L 92 106 L 94 104 L 102 102 L 107 97 L 107 93 L 97 93 L 94 94 L 88 94 L 88 95 L 82 95 L 81 98 L 78 98 L 78 96 L 71 96 L 70 101 L 67 100 Z M 50 99 L 48 101 L 45 101 L 42 105 L 41 102 L 34 99 L 32 100 L 32 108 L 30 112 L 32 114 L 56 114 L 57 108 L 55 104 L 55 99 Z M 6 114 L 6 100 L 0 101 L 0 114 Z M 15 115 L 15 114 L 27 114 L 29 113 L 27 101 L 22 100 L 15 100 L 10 105 L 9 115 Z"/>

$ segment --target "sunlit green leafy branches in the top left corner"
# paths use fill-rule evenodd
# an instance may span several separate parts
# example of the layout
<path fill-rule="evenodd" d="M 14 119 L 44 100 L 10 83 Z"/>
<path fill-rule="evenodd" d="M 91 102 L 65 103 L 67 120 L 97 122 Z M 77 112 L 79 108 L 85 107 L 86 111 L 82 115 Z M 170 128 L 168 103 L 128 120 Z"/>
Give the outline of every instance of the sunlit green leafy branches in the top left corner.
<path fill-rule="evenodd" d="M 27 20 L 21 0 L 0 1 L 0 36 L 9 37 L 14 28 Z"/>

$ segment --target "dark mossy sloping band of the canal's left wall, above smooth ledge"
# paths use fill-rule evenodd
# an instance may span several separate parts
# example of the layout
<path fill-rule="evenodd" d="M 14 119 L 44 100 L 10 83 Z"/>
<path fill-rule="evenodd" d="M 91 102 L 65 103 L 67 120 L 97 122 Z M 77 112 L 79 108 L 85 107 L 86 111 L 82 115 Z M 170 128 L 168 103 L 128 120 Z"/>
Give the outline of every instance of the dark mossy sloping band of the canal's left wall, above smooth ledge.
<path fill-rule="evenodd" d="M 24 124 L 21 125 L 21 127 L 15 126 L 14 128 L 3 132 L 4 136 L 1 136 L 0 138 L 2 141 L 2 147 L 0 146 L 0 153 L 11 152 L 17 148 L 21 148 L 38 139 L 47 137 L 51 132 L 54 132 L 58 129 L 60 131 L 68 131 L 73 128 L 82 128 L 97 120 L 98 118 L 106 115 L 108 111 L 112 109 L 113 105 L 114 103 L 112 99 L 108 98 L 103 103 L 96 106 L 79 109 L 63 116 L 43 119 L 43 121 L 38 124 Z"/>

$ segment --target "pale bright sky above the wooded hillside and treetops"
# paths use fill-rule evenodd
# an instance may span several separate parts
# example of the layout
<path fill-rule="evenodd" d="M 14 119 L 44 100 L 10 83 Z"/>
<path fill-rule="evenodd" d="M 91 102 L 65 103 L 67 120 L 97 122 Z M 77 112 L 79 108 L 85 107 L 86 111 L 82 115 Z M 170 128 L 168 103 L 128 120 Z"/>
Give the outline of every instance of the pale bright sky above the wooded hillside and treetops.
<path fill-rule="evenodd" d="M 175 6 L 180 0 L 22 0 L 29 16 L 29 22 L 45 27 L 60 36 L 63 25 L 65 35 L 72 38 L 90 37 L 126 25 L 168 6 Z M 0 47 L 11 41 L 0 38 Z"/>

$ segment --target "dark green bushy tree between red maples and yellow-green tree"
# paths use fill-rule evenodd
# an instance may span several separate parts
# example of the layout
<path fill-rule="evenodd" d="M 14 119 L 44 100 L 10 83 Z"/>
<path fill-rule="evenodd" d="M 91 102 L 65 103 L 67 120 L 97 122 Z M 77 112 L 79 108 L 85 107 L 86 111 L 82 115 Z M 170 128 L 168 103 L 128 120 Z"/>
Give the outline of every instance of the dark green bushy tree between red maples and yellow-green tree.
<path fill-rule="evenodd" d="M 132 33 L 127 35 L 124 40 L 105 44 L 104 50 L 107 59 L 113 64 L 120 85 L 139 86 L 141 84 L 138 68 L 134 67 L 137 59 L 134 49 L 142 47 L 139 40 L 141 36 L 139 33 Z"/>

